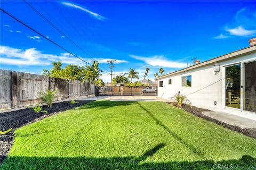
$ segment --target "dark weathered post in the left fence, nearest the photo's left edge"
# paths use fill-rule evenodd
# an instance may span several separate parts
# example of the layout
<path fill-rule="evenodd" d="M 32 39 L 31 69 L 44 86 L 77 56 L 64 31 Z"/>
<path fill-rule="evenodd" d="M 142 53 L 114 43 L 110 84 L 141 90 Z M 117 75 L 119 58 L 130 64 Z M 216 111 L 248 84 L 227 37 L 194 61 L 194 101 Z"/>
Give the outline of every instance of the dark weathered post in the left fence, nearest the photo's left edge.
<path fill-rule="evenodd" d="M 17 72 L 12 72 L 12 107 L 20 106 L 20 85 L 21 76 Z"/>

